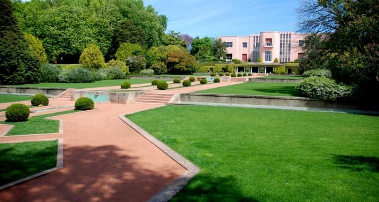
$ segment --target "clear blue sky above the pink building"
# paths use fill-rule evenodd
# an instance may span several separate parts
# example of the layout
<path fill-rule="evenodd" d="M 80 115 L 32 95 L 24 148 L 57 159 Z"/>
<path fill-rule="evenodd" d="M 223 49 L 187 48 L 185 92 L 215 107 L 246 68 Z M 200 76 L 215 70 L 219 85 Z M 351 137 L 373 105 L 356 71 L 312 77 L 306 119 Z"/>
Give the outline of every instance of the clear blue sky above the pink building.
<path fill-rule="evenodd" d="M 195 36 L 296 31 L 300 0 L 144 0 L 168 18 L 167 30 Z"/>

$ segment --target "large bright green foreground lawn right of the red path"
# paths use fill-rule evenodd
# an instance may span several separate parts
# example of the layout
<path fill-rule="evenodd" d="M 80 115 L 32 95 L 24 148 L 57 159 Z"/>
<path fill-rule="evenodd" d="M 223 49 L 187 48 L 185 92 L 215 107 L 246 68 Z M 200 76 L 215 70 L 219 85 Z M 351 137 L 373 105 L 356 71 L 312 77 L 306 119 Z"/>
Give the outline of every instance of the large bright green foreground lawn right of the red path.
<path fill-rule="evenodd" d="M 204 106 L 127 117 L 200 167 L 172 201 L 379 200 L 379 117 Z"/>

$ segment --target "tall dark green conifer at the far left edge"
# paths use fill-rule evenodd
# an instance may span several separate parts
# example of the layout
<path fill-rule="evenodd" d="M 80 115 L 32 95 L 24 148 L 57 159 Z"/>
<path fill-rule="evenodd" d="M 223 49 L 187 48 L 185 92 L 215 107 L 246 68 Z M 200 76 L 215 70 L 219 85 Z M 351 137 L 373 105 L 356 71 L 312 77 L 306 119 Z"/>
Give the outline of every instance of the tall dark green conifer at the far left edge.
<path fill-rule="evenodd" d="M 0 8 L 0 84 L 37 83 L 40 64 L 17 25 L 11 1 L 0 0 Z"/>

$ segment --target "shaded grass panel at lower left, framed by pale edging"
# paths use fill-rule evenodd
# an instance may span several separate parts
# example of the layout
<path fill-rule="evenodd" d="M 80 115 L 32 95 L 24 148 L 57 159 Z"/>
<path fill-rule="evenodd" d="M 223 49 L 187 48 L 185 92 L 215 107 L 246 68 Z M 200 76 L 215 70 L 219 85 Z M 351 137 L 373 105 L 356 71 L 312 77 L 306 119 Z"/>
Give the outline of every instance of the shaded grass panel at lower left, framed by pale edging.
<path fill-rule="evenodd" d="M 0 143 L 0 185 L 57 165 L 58 140 Z"/>

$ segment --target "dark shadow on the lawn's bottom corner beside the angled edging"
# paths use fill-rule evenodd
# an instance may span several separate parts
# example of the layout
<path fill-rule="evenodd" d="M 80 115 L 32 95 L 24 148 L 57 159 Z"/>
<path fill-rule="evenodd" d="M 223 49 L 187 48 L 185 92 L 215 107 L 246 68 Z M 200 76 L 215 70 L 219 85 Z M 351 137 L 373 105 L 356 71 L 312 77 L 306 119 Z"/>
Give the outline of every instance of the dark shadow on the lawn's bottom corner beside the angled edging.
<path fill-rule="evenodd" d="M 201 173 L 170 201 L 258 201 L 255 198 L 244 196 L 237 184 L 233 176 L 215 177 Z"/>

